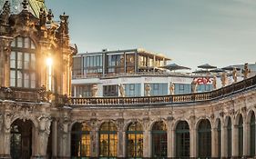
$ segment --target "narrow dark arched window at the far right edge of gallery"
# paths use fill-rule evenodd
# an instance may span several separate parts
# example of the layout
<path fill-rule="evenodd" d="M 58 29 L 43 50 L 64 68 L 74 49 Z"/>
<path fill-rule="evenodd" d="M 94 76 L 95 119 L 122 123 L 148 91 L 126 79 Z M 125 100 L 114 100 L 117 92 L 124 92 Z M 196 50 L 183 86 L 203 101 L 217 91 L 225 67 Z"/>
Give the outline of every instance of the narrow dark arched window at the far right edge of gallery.
<path fill-rule="evenodd" d="M 250 144 L 251 144 L 251 157 L 255 155 L 255 114 L 252 112 L 251 114 L 251 122 L 250 122 Z"/>

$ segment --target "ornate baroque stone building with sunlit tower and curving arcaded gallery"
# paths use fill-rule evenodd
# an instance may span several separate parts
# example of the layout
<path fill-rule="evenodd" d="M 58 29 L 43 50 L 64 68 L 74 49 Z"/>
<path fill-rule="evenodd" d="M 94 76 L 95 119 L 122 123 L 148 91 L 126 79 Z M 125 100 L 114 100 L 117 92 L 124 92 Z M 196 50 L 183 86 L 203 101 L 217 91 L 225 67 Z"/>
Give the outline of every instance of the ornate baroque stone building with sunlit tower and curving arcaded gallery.
<path fill-rule="evenodd" d="M 255 156 L 256 76 L 197 94 L 69 97 L 68 16 L 28 5 L 0 15 L 1 158 Z"/>

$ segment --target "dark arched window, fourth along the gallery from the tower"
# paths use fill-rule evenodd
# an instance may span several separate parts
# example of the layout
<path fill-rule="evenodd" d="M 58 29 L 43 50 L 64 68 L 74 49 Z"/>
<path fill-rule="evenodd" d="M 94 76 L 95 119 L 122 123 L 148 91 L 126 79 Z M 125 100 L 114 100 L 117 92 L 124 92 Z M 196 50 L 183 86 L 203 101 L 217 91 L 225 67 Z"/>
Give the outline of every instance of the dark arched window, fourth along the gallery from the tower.
<path fill-rule="evenodd" d="M 152 128 L 152 157 L 167 157 L 167 128 L 162 121 Z"/>

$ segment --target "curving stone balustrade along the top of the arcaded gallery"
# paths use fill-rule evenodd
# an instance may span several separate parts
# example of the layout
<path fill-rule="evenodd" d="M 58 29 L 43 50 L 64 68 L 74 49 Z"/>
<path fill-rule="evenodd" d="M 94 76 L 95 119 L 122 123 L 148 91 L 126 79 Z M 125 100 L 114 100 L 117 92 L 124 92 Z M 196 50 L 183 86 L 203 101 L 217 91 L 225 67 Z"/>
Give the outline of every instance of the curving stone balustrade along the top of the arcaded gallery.
<path fill-rule="evenodd" d="M 196 93 L 196 94 L 175 94 L 162 96 L 140 96 L 140 97 L 72 97 L 71 106 L 123 106 L 123 105 L 148 105 L 148 104 L 188 104 L 202 101 L 210 101 L 236 94 L 246 89 L 256 87 L 256 76 L 230 84 L 218 90 Z"/>

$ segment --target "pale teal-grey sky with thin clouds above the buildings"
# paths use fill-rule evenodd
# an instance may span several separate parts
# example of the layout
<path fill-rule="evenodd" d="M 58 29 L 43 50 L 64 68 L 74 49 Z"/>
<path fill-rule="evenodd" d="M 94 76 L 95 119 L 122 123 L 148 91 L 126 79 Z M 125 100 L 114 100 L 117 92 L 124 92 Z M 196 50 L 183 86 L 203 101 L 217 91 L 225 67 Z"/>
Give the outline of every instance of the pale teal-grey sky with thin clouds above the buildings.
<path fill-rule="evenodd" d="M 255 0 L 46 0 L 69 15 L 78 52 L 144 48 L 169 63 L 218 67 L 256 62 Z"/>

